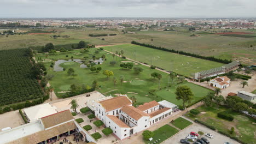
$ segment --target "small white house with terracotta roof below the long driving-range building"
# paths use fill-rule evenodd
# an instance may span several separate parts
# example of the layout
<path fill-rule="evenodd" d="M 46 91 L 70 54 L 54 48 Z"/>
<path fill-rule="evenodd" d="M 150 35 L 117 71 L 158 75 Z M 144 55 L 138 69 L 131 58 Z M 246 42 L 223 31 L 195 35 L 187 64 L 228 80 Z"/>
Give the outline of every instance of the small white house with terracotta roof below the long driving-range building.
<path fill-rule="evenodd" d="M 230 79 L 227 76 L 217 76 L 214 79 L 210 80 L 209 85 L 211 87 L 218 87 L 224 89 L 230 86 Z"/>

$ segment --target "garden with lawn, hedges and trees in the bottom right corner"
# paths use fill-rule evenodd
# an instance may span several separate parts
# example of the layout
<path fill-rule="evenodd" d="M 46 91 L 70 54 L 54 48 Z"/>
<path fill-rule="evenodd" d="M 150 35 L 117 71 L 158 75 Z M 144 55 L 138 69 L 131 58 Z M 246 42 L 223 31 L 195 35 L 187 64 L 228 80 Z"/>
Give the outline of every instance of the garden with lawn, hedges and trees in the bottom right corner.
<path fill-rule="evenodd" d="M 199 114 L 195 115 L 190 112 L 185 116 L 192 120 L 196 119 L 199 123 L 208 125 L 209 128 L 216 129 L 221 134 L 234 137 L 232 139 L 238 139 L 243 143 L 255 143 L 256 119 L 233 111 L 226 106 L 219 106 L 219 109 L 216 109 L 203 105 L 196 110 L 199 111 Z M 226 113 L 225 117 L 218 117 L 218 113 L 223 114 L 223 112 Z"/>

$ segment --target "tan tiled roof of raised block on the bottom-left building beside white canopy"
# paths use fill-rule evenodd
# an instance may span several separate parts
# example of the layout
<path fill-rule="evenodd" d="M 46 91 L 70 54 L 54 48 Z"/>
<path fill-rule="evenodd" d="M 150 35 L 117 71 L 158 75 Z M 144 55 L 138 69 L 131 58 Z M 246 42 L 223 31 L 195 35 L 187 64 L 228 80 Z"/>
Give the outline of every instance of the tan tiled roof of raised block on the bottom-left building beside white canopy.
<path fill-rule="evenodd" d="M 53 127 L 54 125 L 57 125 L 63 122 L 67 122 L 71 119 L 74 119 L 74 118 L 70 110 L 61 111 L 58 113 L 54 113 L 53 115 L 49 115 L 41 118 L 45 129 Z"/>

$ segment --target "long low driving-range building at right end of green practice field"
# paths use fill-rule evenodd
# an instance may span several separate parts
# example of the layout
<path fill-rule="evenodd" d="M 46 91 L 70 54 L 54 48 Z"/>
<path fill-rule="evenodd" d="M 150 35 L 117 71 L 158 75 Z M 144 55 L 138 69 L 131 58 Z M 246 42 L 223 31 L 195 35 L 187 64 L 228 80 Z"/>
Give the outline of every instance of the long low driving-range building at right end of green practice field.
<path fill-rule="evenodd" d="M 213 77 L 220 74 L 228 73 L 229 71 L 238 69 L 239 65 L 240 62 L 234 61 L 229 64 L 225 64 L 222 67 L 200 71 L 198 73 L 195 73 L 195 80 L 205 79 L 206 77 Z"/>

